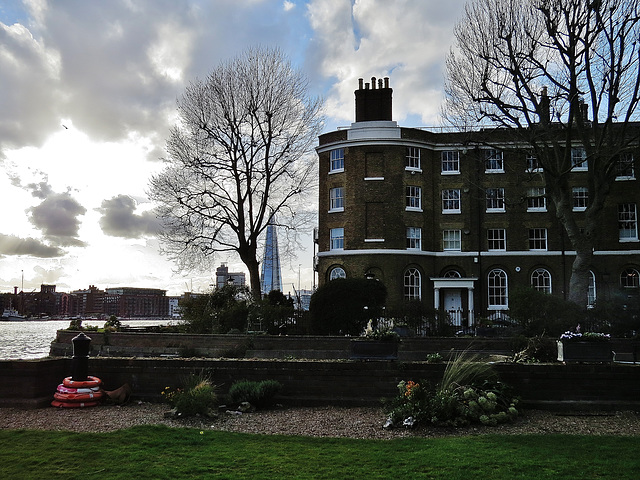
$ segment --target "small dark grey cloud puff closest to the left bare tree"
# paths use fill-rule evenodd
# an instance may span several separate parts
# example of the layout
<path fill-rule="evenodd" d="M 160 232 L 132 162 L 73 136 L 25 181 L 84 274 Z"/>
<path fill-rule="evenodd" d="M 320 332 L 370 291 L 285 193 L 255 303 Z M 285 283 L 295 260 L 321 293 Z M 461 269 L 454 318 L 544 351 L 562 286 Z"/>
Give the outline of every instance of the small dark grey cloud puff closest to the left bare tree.
<path fill-rule="evenodd" d="M 160 224 L 153 212 L 136 214 L 136 202 L 127 195 L 104 200 L 101 208 L 100 227 L 112 237 L 140 238 L 155 235 Z"/>

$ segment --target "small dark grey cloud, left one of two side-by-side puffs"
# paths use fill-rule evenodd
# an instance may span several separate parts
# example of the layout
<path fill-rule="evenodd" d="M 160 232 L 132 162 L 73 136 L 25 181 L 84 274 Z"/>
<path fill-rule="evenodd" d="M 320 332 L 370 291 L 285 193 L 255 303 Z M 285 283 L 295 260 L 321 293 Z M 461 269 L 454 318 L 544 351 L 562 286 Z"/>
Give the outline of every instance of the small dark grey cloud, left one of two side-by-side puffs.
<path fill-rule="evenodd" d="M 60 246 L 86 246 L 78 239 L 78 217 L 86 211 L 68 193 L 50 194 L 39 205 L 28 210 L 30 222 L 42 230 L 47 240 Z"/>

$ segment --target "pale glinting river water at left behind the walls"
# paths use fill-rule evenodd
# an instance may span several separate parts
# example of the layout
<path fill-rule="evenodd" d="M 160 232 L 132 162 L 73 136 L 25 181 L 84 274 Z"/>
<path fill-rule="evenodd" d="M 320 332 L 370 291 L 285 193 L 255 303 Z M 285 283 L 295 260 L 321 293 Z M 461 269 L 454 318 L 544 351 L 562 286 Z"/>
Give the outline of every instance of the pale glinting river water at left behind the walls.
<path fill-rule="evenodd" d="M 175 322 L 175 321 L 174 321 Z M 82 325 L 103 327 L 104 320 L 83 320 Z M 122 320 L 123 325 L 143 327 L 167 325 L 170 320 Z M 0 360 L 27 360 L 49 356 L 56 332 L 69 327 L 69 320 L 0 322 Z M 91 332 L 87 332 L 91 336 Z"/>

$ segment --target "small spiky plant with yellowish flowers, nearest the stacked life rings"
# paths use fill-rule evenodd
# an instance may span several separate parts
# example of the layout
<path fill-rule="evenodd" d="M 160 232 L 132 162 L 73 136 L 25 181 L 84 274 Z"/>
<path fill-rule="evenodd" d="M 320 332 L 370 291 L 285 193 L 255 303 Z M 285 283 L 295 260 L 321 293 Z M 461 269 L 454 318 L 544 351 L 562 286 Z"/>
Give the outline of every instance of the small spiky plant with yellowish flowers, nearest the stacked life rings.
<path fill-rule="evenodd" d="M 165 401 L 176 410 L 177 415 L 185 417 L 208 416 L 211 409 L 217 406 L 215 386 L 208 377 L 202 374 L 189 376 L 185 380 L 183 388 L 165 387 L 160 393 Z"/>

